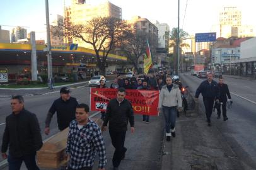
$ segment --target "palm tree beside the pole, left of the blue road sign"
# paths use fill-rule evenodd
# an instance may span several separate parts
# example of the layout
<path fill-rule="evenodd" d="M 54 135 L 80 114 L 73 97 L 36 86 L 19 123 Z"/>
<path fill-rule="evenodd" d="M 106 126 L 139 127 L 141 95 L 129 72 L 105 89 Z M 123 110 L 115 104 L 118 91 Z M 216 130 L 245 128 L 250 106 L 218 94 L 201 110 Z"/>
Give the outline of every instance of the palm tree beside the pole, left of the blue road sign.
<path fill-rule="evenodd" d="M 173 28 L 171 33 L 170 33 L 170 47 L 173 47 L 173 69 L 177 70 L 177 45 L 182 51 L 183 47 L 189 47 L 189 44 L 184 43 L 183 41 L 186 40 L 189 37 L 189 33 L 186 31 L 180 29 L 180 37 L 179 37 L 179 44 L 178 42 L 178 28 Z"/>

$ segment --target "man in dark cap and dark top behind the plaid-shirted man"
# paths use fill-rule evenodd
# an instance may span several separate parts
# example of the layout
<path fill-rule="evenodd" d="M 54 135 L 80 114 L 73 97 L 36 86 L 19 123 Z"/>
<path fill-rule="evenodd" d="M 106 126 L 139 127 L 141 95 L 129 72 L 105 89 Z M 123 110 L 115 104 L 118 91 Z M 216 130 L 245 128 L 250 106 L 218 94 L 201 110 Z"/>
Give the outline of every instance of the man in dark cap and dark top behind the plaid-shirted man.
<path fill-rule="evenodd" d="M 55 112 L 57 112 L 58 127 L 61 131 L 69 127 L 69 123 L 76 119 L 76 106 L 78 106 L 78 101 L 76 101 L 76 98 L 70 96 L 71 91 L 66 87 L 61 88 L 60 93 L 61 98 L 56 99 L 48 111 L 45 120 L 46 135 L 50 133 L 50 121 Z"/>

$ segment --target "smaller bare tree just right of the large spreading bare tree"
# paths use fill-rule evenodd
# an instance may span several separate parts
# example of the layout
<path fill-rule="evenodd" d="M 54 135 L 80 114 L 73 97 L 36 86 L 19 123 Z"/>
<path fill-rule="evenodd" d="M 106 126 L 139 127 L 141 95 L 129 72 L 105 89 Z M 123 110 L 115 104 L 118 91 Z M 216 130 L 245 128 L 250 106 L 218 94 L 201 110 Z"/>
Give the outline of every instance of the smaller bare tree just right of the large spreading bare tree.
<path fill-rule="evenodd" d="M 126 39 L 121 43 L 120 50 L 127 55 L 136 72 L 139 72 L 139 58 L 145 54 L 148 37 L 148 33 L 143 31 L 129 30 Z"/>

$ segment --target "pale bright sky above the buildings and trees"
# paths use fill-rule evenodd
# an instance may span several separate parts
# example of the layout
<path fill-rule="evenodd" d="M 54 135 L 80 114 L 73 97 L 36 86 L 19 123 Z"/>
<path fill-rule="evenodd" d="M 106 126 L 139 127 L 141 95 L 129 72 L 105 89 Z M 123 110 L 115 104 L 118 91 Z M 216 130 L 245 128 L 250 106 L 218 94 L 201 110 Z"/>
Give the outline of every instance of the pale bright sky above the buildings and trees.
<path fill-rule="evenodd" d="M 87 0 L 97 4 L 106 0 Z M 148 18 L 155 23 L 167 23 L 170 30 L 178 25 L 178 0 L 110 0 L 122 8 L 122 18 L 130 20 L 132 16 Z M 242 12 L 242 25 L 256 25 L 256 11 L 252 0 L 180 0 L 180 28 L 190 35 L 212 31 L 218 25 L 219 12 L 224 7 L 236 6 Z M 28 31 L 36 31 L 36 38 L 45 37 L 45 0 L 0 0 L 0 25 L 11 30 L 13 26 L 26 26 Z M 66 0 L 65 4 L 70 4 Z M 187 10 L 186 9 L 187 4 Z M 50 20 L 57 14 L 63 15 L 64 0 L 49 0 Z M 184 18 L 185 15 L 185 18 Z"/>

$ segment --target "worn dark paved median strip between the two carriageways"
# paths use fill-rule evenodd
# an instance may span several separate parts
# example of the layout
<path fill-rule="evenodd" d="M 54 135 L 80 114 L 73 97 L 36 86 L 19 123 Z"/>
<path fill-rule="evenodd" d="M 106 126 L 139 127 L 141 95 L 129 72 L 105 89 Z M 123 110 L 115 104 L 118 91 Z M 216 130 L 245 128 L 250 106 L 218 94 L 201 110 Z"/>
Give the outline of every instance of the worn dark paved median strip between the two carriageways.
<path fill-rule="evenodd" d="M 182 82 L 184 86 L 188 85 L 183 79 Z M 176 137 L 170 142 L 163 139 L 161 170 L 245 169 L 219 131 L 223 120 L 216 117 L 216 112 L 212 113 L 212 126 L 207 127 L 202 98 L 199 98 L 199 116 L 180 114 L 175 126 Z"/>

